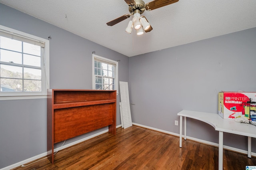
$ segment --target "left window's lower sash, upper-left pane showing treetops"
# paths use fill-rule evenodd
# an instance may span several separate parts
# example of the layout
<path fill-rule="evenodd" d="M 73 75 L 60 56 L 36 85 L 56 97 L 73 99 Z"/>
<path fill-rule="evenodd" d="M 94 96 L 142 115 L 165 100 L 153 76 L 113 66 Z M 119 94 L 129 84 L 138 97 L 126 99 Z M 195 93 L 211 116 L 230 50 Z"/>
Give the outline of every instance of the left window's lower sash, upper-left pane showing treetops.
<path fill-rule="evenodd" d="M 0 64 L 0 77 L 22 79 L 22 67 Z"/>

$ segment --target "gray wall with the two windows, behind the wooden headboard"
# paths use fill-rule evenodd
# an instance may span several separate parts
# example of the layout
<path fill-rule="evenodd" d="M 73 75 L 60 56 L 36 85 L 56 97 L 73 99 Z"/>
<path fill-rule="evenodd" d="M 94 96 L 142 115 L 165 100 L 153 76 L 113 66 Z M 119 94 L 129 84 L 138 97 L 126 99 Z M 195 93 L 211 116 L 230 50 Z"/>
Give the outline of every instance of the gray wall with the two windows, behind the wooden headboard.
<path fill-rule="evenodd" d="M 1 3 L 0 16 L 2 26 L 45 39 L 52 37 L 51 89 L 92 89 L 92 51 L 102 57 L 120 60 L 118 80 L 128 81 L 129 57 Z M 120 102 L 120 95 L 117 102 Z M 46 107 L 46 99 L 0 101 L 0 168 L 46 152 Z M 120 125 L 119 104 L 116 111 L 116 125 Z M 65 144 L 106 129 L 72 138 Z"/>

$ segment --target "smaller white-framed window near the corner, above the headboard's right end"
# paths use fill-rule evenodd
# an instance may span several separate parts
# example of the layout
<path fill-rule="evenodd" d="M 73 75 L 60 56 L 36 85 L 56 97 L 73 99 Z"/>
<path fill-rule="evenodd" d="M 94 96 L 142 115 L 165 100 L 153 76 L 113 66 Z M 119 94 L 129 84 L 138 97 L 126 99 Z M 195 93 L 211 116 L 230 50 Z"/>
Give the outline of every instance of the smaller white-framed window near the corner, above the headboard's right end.
<path fill-rule="evenodd" d="M 98 55 L 92 55 L 93 62 L 93 89 L 117 90 L 118 62 Z"/>

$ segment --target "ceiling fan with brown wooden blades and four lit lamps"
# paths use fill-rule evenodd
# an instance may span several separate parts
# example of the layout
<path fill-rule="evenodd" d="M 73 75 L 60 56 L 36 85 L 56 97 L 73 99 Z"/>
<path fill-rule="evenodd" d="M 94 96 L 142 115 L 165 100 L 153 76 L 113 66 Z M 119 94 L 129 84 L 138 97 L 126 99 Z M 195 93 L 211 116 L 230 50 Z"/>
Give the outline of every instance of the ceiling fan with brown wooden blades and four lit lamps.
<path fill-rule="evenodd" d="M 126 32 L 131 34 L 132 28 L 134 27 L 135 30 L 137 30 L 137 35 L 143 34 L 143 30 L 145 32 L 150 32 L 153 30 L 152 26 L 149 24 L 148 20 L 145 16 L 140 16 L 145 10 L 151 11 L 157 8 L 161 8 L 166 5 L 173 4 L 175 2 L 178 2 L 179 0 L 153 0 L 152 2 L 149 2 L 145 4 L 143 0 L 124 0 L 128 6 L 129 6 L 129 12 L 131 14 L 125 14 L 123 16 L 120 16 L 119 18 L 116 18 L 110 22 L 107 23 L 108 26 L 114 26 L 115 24 L 130 18 L 130 16 L 134 16 L 132 20 L 129 22 Z"/>

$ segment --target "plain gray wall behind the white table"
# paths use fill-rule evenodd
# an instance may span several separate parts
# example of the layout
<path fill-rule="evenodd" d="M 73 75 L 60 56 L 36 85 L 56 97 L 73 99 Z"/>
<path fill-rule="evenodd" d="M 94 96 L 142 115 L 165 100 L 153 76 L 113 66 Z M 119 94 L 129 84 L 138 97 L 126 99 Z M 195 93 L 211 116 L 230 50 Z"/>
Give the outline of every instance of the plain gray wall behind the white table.
<path fill-rule="evenodd" d="M 255 64 L 256 28 L 130 57 L 132 122 L 179 133 L 181 110 L 217 114 L 219 91 L 256 91 Z M 187 135 L 218 143 L 201 121 L 188 119 Z M 247 150 L 247 138 L 225 133 L 224 145 Z"/>

